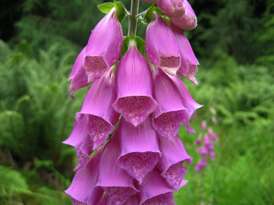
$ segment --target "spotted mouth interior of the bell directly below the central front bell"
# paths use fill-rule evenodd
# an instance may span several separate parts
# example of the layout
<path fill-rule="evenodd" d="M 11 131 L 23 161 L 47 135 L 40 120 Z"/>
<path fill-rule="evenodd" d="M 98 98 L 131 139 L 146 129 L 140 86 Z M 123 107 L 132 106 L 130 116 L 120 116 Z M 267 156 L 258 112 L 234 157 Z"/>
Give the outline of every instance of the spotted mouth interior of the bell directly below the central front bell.
<path fill-rule="evenodd" d="M 155 152 L 132 152 L 119 159 L 124 169 L 140 183 L 157 162 L 158 156 Z"/>

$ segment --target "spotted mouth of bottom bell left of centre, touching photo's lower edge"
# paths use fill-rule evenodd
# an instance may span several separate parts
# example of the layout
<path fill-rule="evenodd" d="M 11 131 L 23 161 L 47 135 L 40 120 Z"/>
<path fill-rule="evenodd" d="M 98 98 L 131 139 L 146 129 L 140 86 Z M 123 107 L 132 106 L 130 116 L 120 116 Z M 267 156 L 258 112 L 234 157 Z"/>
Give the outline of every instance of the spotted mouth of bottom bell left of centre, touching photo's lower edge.
<path fill-rule="evenodd" d="M 128 200 L 129 196 L 135 193 L 131 187 L 121 187 L 121 186 L 109 186 L 103 187 L 103 190 L 111 197 L 114 204 L 123 204 Z"/>

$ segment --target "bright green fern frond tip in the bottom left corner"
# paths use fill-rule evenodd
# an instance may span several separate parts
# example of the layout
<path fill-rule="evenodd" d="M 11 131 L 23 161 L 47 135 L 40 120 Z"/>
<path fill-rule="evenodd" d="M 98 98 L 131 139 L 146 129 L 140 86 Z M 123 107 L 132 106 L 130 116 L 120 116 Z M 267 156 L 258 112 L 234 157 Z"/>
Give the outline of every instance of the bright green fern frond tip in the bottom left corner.
<path fill-rule="evenodd" d="M 0 166 L 0 197 L 15 194 L 31 194 L 21 173 L 9 167 Z"/>

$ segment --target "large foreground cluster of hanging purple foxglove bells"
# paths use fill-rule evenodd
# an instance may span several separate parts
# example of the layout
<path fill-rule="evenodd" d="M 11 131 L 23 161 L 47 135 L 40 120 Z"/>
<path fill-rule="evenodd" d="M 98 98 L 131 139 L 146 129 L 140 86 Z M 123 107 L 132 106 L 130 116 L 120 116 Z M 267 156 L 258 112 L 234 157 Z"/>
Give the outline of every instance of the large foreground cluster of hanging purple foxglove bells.
<path fill-rule="evenodd" d="M 174 192 L 188 182 L 184 175 L 192 158 L 177 133 L 182 124 L 195 133 L 189 122 L 202 105 L 176 74 L 197 84 L 198 61 L 172 18 L 184 19 L 193 10 L 185 0 L 156 3 L 170 18 L 152 12 L 143 49 L 148 60 L 135 36 L 123 43 L 116 5 L 94 28 L 73 66 L 72 98 L 93 83 L 64 141 L 78 157 L 78 171 L 65 191 L 73 205 L 171 205 Z M 127 51 L 118 62 L 122 45 Z"/>

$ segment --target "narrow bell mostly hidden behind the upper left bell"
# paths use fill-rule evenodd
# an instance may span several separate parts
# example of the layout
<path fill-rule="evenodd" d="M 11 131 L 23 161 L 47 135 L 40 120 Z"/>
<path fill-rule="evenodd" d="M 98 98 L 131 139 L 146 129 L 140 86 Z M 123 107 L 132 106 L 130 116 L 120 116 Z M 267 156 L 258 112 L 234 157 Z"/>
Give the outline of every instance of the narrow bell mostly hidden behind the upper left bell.
<path fill-rule="evenodd" d="M 73 92 L 79 90 L 82 87 L 89 85 L 91 82 L 88 82 L 88 77 L 86 75 L 86 69 L 83 66 L 84 63 L 84 54 L 86 52 L 86 47 L 81 51 L 79 56 L 76 58 L 76 61 L 72 67 L 72 71 L 69 75 L 68 80 L 71 80 L 71 86 L 69 88 L 70 97 L 75 99 L 72 95 Z"/>

